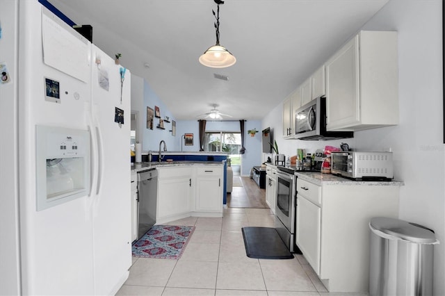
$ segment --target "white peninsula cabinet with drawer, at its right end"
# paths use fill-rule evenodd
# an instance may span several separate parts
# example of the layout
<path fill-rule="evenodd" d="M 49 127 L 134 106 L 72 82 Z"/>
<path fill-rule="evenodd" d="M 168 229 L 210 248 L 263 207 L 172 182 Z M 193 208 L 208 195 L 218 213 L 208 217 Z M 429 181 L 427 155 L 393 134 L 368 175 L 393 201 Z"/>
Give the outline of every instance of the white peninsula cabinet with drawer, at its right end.
<path fill-rule="evenodd" d="M 223 211 L 223 167 L 195 167 L 195 211 Z"/>

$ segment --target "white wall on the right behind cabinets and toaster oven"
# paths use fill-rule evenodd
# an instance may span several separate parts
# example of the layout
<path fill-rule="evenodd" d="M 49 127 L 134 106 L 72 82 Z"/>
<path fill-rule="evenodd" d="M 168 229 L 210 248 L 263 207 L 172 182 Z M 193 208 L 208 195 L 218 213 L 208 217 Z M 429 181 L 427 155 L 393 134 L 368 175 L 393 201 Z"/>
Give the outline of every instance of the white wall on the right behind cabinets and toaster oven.
<path fill-rule="evenodd" d="M 281 102 L 264 117 L 262 128 L 273 129 L 280 153 L 286 155 L 295 155 L 296 148 L 312 152 L 325 145 L 338 147 L 341 142 L 362 151 L 390 147 L 394 177 L 405 181 L 400 218 L 435 231 L 441 244 L 435 245 L 434 295 L 445 295 L 442 1 L 391 0 L 362 29 L 398 31 L 398 126 L 359 131 L 354 139 L 283 140 Z"/>

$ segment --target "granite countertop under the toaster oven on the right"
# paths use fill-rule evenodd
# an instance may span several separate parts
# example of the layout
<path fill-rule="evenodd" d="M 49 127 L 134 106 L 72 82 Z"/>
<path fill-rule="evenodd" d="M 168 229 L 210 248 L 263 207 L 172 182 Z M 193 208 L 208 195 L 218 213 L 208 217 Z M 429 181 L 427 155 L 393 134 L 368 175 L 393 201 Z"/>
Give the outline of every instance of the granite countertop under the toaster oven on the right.
<path fill-rule="evenodd" d="M 302 180 L 315 183 L 316 185 L 364 185 L 364 186 L 404 186 L 403 181 L 354 181 L 335 176 L 333 174 L 322 174 L 321 172 L 296 172 L 295 175 Z"/>

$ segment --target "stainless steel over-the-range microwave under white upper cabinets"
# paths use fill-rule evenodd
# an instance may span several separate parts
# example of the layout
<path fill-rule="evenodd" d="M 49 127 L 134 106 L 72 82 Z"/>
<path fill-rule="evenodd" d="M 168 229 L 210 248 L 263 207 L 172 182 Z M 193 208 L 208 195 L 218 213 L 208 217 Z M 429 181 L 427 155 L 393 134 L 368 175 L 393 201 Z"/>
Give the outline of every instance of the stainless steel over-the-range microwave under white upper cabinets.
<path fill-rule="evenodd" d="M 318 97 L 296 110 L 295 138 L 332 140 L 353 138 L 353 131 L 326 131 L 326 97 Z"/>

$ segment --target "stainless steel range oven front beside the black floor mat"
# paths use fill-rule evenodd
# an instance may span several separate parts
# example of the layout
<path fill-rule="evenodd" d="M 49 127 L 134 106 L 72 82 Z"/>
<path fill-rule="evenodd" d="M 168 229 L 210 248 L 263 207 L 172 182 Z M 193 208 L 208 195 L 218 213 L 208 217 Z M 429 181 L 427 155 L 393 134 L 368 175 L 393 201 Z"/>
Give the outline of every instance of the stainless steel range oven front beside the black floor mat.
<path fill-rule="evenodd" d="M 293 170 L 277 167 L 275 229 L 290 252 L 301 254 L 296 246 L 296 176 Z"/>

